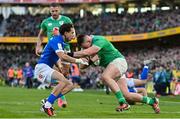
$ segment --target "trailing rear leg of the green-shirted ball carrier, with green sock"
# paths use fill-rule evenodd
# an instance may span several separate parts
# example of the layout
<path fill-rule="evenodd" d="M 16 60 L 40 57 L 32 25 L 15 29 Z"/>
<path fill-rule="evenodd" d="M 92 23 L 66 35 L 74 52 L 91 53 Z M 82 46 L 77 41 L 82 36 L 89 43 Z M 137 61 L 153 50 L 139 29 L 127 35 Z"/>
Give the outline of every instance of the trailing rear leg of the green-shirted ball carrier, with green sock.
<path fill-rule="evenodd" d="M 160 112 L 159 108 L 159 101 L 157 98 L 150 98 L 147 96 L 142 96 L 137 93 L 130 93 L 127 88 L 127 82 L 124 77 L 121 77 L 120 80 L 117 81 L 122 93 L 124 94 L 124 97 L 129 101 L 134 102 L 142 102 L 146 103 L 148 105 L 151 105 L 156 113 Z"/>

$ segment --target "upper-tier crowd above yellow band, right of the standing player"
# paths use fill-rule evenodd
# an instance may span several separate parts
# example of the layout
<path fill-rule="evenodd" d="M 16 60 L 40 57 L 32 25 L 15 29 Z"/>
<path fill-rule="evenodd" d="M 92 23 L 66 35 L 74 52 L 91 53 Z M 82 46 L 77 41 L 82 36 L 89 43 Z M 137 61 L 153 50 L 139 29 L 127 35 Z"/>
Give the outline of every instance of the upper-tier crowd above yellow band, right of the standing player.
<path fill-rule="evenodd" d="M 78 33 L 119 35 L 158 31 L 180 26 L 180 10 L 151 11 L 146 13 L 87 14 L 75 22 Z"/>

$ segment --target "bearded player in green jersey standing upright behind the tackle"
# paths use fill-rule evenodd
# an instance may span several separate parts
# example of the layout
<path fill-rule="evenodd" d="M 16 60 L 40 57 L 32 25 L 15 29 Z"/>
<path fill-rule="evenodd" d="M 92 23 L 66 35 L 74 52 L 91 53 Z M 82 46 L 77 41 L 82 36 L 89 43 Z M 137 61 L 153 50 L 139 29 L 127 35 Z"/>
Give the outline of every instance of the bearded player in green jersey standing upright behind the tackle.
<path fill-rule="evenodd" d="M 36 45 L 36 55 L 40 55 L 42 52 L 42 42 L 43 42 L 43 35 L 46 34 L 48 37 L 48 41 L 53 35 L 59 35 L 59 28 L 64 24 L 64 23 L 72 23 L 71 19 L 69 17 L 60 15 L 60 6 L 56 3 L 52 3 L 50 5 L 50 13 L 51 16 L 44 19 L 41 23 L 41 29 L 38 34 L 38 41 Z M 65 52 L 70 51 L 70 46 L 69 43 L 66 43 L 65 45 Z M 59 62 L 59 64 L 62 64 Z M 63 66 L 62 66 L 63 65 Z M 69 67 L 70 65 L 62 64 L 59 67 L 62 67 L 63 70 L 62 73 L 65 75 L 68 75 L 69 72 Z M 67 106 L 67 101 L 65 96 L 62 96 L 61 98 L 58 99 L 58 106 L 59 107 L 66 107 Z"/>

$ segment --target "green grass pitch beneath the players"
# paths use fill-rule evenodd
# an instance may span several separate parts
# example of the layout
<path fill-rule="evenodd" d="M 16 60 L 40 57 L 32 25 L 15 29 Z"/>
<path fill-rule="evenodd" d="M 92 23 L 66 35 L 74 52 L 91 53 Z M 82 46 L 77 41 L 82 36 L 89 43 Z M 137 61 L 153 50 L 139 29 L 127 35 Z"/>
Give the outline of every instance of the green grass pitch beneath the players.
<path fill-rule="evenodd" d="M 40 100 L 51 90 L 0 87 L 0 118 L 47 118 L 40 112 Z M 116 112 L 114 95 L 103 91 L 86 90 L 66 95 L 68 107 L 60 109 L 54 104 L 56 117 L 52 118 L 180 118 L 180 96 L 160 98 L 161 113 L 155 114 L 151 106 L 137 104 L 124 112 Z"/>

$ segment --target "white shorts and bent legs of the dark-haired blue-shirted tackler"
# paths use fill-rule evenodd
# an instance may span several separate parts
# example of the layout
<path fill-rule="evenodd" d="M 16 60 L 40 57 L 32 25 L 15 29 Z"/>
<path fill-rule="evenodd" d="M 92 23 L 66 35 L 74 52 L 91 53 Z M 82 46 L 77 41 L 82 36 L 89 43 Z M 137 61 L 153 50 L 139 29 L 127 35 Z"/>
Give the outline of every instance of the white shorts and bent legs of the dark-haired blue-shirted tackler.
<path fill-rule="evenodd" d="M 72 89 L 72 83 L 65 79 L 65 77 L 58 71 L 50 68 L 46 64 L 38 64 L 35 67 L 35 76 L 41 82 L 51 82 L 51 79 L 58 80 L 60 83 L 54 87 L 52 93 L 49 95 L 45 104 L 42 105 L 43 111 L 49 116 L 54 115 L 53 103 L 57 98 L 63 96 L 63 93 L 67 93 Z M 67 89 L 66 89 L 67 88 Z M 63 89 L 66 89 L 63 92 Z"/>

